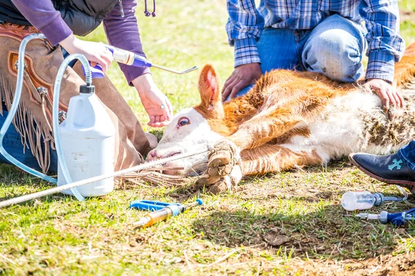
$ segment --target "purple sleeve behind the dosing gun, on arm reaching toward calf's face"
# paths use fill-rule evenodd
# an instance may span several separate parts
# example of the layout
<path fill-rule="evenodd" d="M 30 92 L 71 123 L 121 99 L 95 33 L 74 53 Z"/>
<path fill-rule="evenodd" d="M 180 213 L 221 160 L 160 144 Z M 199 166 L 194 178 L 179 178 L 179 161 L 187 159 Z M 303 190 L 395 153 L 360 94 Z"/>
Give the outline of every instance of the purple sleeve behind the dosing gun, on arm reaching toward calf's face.
<path fill-rule="evenodd" d="M 117 48 L 134 52 L 142 57 L 145 54 L 142 50 L 140 32 L 138 31 L 136 12 L 136 0 L 123 0 L 122 7 L 120 2 L 116 4 L 113 10 L 104 19 L 104 30 L 107 34 L 108 42 Z M 124 17 L 121 15 L 121 8 L 124 11 Z M 147 67 L 133 67 L 118 63 L 124 73 L 129 86 L 133 86 L 131 81 L 143 74 L 150 72 Z"/>

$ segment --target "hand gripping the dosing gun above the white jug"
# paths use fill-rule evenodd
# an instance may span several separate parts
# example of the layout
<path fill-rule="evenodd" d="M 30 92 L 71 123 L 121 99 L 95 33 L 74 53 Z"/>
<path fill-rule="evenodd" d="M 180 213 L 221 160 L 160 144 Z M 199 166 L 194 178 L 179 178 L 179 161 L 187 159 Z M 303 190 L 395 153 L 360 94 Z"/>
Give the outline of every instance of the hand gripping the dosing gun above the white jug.
<path fill-rule="evenodd" d="M 69 54 L 82 54 L 91 62 L 91 66 L 100 64 L 102 71 L 107 72 L 113 57 L 102 43 L 77 39 L 73 34 L 59 42 Z"/>

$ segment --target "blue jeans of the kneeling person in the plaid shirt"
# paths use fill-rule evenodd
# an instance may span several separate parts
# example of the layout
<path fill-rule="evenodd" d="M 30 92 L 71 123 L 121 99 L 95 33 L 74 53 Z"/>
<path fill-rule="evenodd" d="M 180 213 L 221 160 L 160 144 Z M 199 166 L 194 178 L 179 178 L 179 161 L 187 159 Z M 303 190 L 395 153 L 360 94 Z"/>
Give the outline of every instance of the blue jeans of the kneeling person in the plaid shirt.
<path fill-rule="evenodd" d="M 262 73 L 275 69 L 319 72 L 336 81 L 353 82 L 365 72 L 365 32 L 357 23 L 332 15 L 313 30 L 266 28 L 257 43 Z M 243 88 L 246 94 L 253 85 Z"/>

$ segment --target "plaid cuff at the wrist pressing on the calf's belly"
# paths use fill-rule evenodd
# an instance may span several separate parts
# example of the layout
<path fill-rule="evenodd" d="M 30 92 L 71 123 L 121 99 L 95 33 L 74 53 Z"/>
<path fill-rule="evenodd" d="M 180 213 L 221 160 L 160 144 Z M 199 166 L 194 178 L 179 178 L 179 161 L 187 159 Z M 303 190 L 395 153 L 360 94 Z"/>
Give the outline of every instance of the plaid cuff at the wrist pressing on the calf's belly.
<path fill-rule="evenodd" d="M 383 79 L 394 81 L 395 56 L 389 52 L 372 51 L 367 63 L 366 79 Z"/>

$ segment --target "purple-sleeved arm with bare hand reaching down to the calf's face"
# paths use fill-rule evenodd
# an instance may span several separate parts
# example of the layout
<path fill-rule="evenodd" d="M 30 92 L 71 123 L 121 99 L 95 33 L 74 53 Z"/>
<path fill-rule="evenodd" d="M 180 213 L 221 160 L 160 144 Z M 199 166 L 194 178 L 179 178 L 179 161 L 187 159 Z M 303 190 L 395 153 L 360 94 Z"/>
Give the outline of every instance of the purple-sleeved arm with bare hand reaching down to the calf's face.
<path fill-rule="evenodd" d="M 123 0 L 121 15 L 120 3 L 104 19 L 104 30 L 112 46 L 135 52 L 142 57 L 140 32 L 135 16 L 137 1 Z M 120 68 L 130 86 L 134 86 L 140 95 L 142 105 L 149 115 L 149 126 L 160 127 L 168 124 L 173 117 L 172 104 L 161 92 L 149 74 L 149 68 L 139 68 L 120 64 Z"/>

